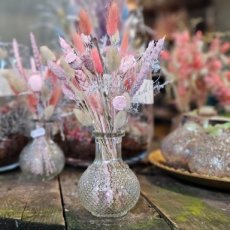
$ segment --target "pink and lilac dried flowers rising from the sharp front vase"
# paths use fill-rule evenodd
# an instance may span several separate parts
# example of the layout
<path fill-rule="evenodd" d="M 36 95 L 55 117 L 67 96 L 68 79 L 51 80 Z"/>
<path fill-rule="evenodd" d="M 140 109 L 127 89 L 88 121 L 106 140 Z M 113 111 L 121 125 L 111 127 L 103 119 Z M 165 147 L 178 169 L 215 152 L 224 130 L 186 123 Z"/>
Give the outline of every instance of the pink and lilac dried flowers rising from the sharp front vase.
<path fill-rule="evenodd" d="M 120 41 L 119 10 L 114 2 L 102 43 L 93 36 L 85 11 L 79 19 L 80 32 L 73 35 L 73 44 L 60 38 L 67 64 L 60 67 L 49 62 L 49 68 L 62 81 L 63 93 L 76 101 L 75 114 L 83 125 L 92 125 L 101 133 L 123 132 L 132 103 L 153 102 L 148 96 L 153 97 L 154 83 L 146 79 L 155 70 L 164 39 L 150 42 L 141 56 L 135 56 L 129 50 L 127 34 Z"/>

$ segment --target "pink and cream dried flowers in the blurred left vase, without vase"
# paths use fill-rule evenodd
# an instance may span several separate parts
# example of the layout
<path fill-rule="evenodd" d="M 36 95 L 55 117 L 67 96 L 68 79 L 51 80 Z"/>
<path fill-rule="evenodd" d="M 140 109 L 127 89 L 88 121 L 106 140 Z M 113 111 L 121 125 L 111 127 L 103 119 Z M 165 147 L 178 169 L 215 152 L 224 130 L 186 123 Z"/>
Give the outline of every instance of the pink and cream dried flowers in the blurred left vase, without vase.
<path fill-rule="evenodd" d="M 57 63 L 55 55 L 46 46 L 37 47 L 35 37 L 31 33 L 31 48 L 33 57 L 30 58 L 31 68 L 25 69 L 21 61 L 18 43 L 13 40 L 15 56 L 14 72 L 7 73 L 6 78 L 16 95 L 25 95 L 27 105 L 33 114 L 33 119 L 46 121 L 53 118 L 62 96 L 58 78 L 49 71 L 48 61 Z"/>

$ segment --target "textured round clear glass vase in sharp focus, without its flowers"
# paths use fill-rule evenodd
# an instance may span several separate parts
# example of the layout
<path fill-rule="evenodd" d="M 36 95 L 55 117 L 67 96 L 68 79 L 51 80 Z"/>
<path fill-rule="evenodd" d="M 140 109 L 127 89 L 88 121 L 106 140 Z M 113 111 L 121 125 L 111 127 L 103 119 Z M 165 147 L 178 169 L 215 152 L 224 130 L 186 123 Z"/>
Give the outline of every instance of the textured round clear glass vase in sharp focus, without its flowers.
<path fill-rule="evenodd" d="M 122 137 L 95 133 L 96 157 L 78 184 L 80 202 L 94 216 L 124 216 L 139 199 L 139 181 L 121 157 Z"/>

